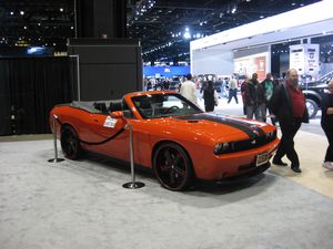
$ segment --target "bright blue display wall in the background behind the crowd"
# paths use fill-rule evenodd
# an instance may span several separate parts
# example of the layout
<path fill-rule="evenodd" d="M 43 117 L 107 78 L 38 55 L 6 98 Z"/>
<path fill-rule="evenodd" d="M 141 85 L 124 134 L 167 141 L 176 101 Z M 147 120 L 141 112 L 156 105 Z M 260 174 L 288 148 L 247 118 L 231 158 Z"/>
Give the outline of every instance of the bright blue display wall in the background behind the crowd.
<path fill-rule="evenodd" d="M 143 66 L 143 76 L 164 76 L 186 75 L 190 73 L 190 66 Z"/>

